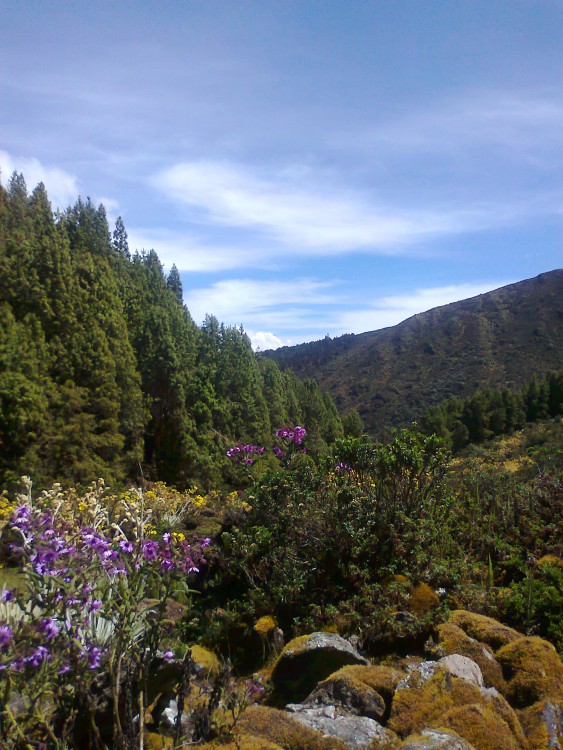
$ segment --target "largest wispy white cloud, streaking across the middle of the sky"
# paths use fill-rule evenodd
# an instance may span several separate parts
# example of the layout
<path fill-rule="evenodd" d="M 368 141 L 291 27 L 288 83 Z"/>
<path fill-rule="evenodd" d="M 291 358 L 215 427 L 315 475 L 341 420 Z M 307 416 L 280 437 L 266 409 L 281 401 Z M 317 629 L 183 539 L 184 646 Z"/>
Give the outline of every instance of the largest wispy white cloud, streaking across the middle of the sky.
<path fill-rule="evenodd" d="M 398 243 L 473 226 L 479 213 L 391 209 L 367 194 L 330 190 L 322 174 L 302 168 L 264 177 L 238 164 L 193 161 L 160 172 L 153 184 L 189 206 L 192 221 L 259 231 L 290 252 L 308 254 L 367 247 L 389 252 Z"/>

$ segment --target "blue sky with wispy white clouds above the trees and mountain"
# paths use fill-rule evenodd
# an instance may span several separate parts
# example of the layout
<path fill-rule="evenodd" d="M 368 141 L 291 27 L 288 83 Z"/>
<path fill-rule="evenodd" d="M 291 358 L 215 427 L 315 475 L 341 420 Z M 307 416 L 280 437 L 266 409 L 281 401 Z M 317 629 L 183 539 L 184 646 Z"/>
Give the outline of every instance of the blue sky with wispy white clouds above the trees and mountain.
<path fill-rule="evenodd" d="M 562 0 L 3 0 L 0 168 L 255 347 L 562 264 Z"/>

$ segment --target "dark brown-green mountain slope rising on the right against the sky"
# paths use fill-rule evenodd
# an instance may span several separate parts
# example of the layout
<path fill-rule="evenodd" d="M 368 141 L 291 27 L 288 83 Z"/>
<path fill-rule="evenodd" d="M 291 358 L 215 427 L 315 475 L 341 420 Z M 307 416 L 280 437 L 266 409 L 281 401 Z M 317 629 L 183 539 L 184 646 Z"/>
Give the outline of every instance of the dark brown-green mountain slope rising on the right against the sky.
<path fill-rule="evenodd" d="M 520 387 L 563 366 L 563 269 L 359 335 L 265 352 L 312 377 L 338 409 L 381 435 L 428 406 L 488 386 Z"/>

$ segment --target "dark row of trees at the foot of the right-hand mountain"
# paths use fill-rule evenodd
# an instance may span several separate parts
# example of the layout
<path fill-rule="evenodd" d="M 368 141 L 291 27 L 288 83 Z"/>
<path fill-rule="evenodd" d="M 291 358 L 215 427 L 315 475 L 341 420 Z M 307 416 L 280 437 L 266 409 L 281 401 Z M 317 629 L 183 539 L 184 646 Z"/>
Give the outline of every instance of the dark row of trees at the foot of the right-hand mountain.
<path fill-rule="evenodd" d="M 524 388 L 486 388 L 469 398 L 450 398 L 426 410 L 421 426 L 459 450 L 495 435 L 510 434 L 527 422 L 563 413 L 563 371 L 533 378 Z"/>

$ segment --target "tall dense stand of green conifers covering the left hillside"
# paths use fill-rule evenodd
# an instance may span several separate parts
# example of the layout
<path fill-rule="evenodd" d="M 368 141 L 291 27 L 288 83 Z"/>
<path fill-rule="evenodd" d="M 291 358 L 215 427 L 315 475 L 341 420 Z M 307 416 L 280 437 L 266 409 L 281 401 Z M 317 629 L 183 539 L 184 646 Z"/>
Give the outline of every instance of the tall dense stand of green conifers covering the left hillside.
<path fill-rule="evenodd" d="M 257 358 L 242 328 L 197 326 L 180 275 L 131 253 L 123 222 L 78 200 L 53 213 L 43 184 L 0 186 L 0 486 L 235 480 L 236 441 L 270 445 L 305 424 L 309 446 L 342 435 L 314 381 Z"/>

